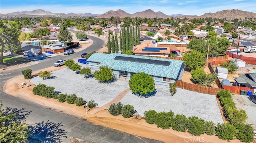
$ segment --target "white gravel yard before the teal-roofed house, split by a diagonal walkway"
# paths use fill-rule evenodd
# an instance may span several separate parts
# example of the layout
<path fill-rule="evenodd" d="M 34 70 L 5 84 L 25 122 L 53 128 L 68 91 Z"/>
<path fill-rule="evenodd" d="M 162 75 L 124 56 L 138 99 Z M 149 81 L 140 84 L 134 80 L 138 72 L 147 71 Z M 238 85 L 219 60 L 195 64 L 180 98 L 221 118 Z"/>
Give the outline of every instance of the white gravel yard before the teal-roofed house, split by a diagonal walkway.
<path fill-rule="evenodd" d="M 88 65 L 79 64 L 82 67 Z M 95 69 L 92 69 L 94 72 Z M 120 92 L 129 88 L 128 80 L 117 79 L 110 84 L 99 83 L 94 78 L 84 78 L 84 75 L 76 74 L 74 71 L 64 68 L 52 71 L 55 79 L 42 80 L 40 77 L 34 77 L 30 80 L 33 84 L 46 84 L 53 86 L 56 91 L 67 94 L 76 94 L 84 100 L 94 100 L 98 107 L 112 101 Z M 169 86 L 156 84 L 156 94 L 148 98 L 140 98 L 128 92 L 120 102 L 124 105 L 134 106 L 134 110 L 140 116 L 148 110 L 156 112 L 168 112 L 172 110 L 174 114 L 183 114 L 185 116 L 197 116 L 204 120 L 223 123 L 220 109 L 215 95 L 202 94 L 177 88 L 176 94 L 170 96 Z"/>

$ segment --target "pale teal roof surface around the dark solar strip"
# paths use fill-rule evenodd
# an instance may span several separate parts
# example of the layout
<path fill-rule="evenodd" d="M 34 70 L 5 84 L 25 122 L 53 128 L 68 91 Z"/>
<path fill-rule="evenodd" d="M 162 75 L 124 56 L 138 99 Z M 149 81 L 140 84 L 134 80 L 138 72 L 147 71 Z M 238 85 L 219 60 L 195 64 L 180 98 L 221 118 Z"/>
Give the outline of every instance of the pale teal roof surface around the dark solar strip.
<path fill-rule="evenodd" d="M 116 60 L 116 56 L 119 57 L 128 57 L 128 58 L 136 58 L 139 60 L 152 60 L 152 61 L 164 61 L 164 63 L 170 63 L 168 66 L 166 65 L 158 65 L 152 63 L 140 63 L 135 61 L 123 61 Z M 94 53 L 92 54 L 87 61 L 99 62 L 99 66 L 108 66 L 113 70 L 117 71 L 127 71 L 127 72 L 145 72 L 149 75 L 160 76 L 160 77 L 169 77 L 169 78 L 178 78 L 180 68 L 183 61 L 173 60 L 173 59 L 162 59 L 162 58 L 154 58 L 154 57 L 144 57 L 144 56 L 136 56 L 136 55 L 125 55 L 125 54 L 104 54 L 104 53 Z"/>

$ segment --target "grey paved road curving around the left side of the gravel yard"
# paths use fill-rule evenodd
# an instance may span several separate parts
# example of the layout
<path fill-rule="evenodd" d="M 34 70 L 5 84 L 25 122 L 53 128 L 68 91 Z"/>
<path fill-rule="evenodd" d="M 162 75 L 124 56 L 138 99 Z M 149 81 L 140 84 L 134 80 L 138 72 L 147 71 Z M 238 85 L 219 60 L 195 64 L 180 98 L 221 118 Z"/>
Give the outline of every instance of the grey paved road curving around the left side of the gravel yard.
<path fill-rule="evenodd" d="M 50 108 L 34 104 L 22 100 L 20 98 L 10 96 L 3 92 L 3 85 L 10 78 L 21 74 L 23 69 L 32 69 L 37 71 L 46 67 L 52 66 L 58 59 L 70 59 L 80 56 L 81 53 L 91 53 L 101 48 L 104 42 L 97 37 L 88 36 L 94 42 L 93 44 L 75 54 L 69 56 L 54 56 L 40 61 L 29 67 L 24 67 L 16 71 L 11 71 L 6 74 L 0 74 L 0 94 L 3 101 L 3 107 L 8 106 L 16 112 L 20 113 L 21 118 L 26 118 L 26 122 L 30 123 L 33 135 L 30 137 L 31 143 L 68 143 L 69 137 L 77 137 L 85 142 L 97 143 L 160 143 L 152 139 L 137 137 L 108 127 L 93 125 L 85 119 L 73 117 L 64 113 L 55 112 Z"/>

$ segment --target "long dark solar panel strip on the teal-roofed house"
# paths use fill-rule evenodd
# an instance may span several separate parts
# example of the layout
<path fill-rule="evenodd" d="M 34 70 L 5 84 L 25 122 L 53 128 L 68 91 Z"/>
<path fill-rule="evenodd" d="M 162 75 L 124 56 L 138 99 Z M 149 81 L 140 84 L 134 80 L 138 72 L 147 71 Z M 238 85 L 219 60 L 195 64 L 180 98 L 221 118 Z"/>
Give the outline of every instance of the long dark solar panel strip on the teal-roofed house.
<path fill-rule="evenodd" d="M 153 64 L 153 65 L 163 65 L 163 66 L 169 66 L 170 61 L 160 61 L 160 60 L 151 60 L 151 59 L 142 59 L 142 58 L 133 58 L 133 57 L 122 57 L 122 56 L 116 56 L 114 58 L 115 60 L 120 61 L 130 61 L 130 62 L 137 62 L 137 63 L 146 63 L 146 64 Z"/>

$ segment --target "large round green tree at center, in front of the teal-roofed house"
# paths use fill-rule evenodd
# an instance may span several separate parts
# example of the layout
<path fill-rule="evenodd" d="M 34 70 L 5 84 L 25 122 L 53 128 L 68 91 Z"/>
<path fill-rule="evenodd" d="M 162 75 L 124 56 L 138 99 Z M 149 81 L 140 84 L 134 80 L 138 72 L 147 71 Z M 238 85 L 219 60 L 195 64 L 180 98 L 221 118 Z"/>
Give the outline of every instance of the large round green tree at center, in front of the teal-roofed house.
<path fill-rule="evenodd" d="M 134 74 L 129 80 L 129 86 L 133 93 L 141 97 L 155 90 L 154 79 L 145 72 Z"/>

